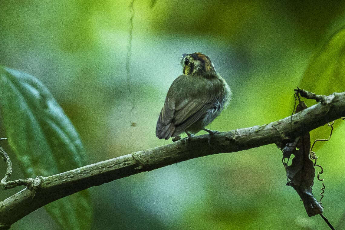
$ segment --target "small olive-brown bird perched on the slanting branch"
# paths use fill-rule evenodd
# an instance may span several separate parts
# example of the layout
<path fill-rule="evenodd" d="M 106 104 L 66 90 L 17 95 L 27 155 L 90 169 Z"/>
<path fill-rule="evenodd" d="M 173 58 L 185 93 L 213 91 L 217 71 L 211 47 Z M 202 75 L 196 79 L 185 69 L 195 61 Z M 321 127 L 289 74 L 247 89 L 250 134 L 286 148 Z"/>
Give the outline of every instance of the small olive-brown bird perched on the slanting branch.
<path fill-rule="evenodd" d="M 211 59 L 203 53 L 182 54 L 183 75 L 172 82 L 160 112 L 156 136 L 159 139 L 177 137 L 186 132 L 188 138 L 200 130 L 210 136 L 218 131 L 205 129 L 231 98 L 226 81 L 216 72 Z"/>

